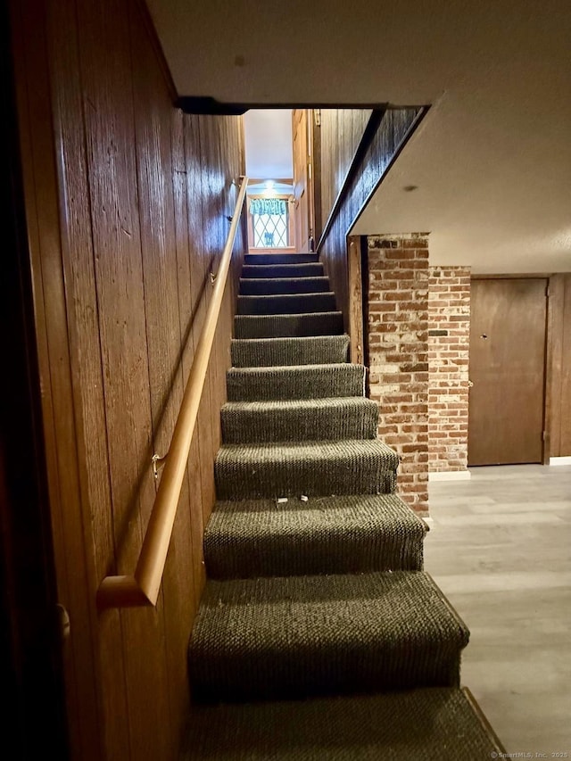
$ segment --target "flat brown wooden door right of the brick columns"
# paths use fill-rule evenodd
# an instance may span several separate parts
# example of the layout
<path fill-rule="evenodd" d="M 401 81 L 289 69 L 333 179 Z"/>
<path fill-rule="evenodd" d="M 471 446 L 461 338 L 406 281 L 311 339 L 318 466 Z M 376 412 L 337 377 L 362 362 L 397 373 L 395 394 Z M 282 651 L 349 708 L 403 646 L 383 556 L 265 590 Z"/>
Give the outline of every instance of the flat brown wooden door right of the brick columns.
<path fill-rule="evenodd" d="M 547 285 L 472 280 L 470 466 L 542 462 Z"/>

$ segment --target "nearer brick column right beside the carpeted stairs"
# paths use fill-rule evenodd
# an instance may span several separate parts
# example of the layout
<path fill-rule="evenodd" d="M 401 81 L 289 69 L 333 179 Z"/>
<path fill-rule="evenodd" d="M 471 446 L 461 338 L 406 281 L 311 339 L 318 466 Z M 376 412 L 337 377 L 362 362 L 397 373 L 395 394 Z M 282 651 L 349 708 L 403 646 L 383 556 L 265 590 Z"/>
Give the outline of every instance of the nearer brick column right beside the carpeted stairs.
<path fill-rule="evenodd" d="M 368 237 L 369 393 L 378 435 L 401 456 L 397 489 L 428 512 L 428 241 Z"/>

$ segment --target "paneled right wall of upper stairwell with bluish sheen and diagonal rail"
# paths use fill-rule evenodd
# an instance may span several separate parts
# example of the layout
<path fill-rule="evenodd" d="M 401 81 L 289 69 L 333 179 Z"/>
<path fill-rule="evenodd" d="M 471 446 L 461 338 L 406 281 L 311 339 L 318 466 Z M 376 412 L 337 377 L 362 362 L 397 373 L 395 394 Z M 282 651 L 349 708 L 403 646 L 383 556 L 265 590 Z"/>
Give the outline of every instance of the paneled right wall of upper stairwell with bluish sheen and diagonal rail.
<path fill-rule="evenodd" d="M 335 290 L 337 306 L 343 311 L 346 327 L 349 314 L 346 237 L 360 211 L 377 189 L 391 161 L 409 138 L 421 112 L 422 109 L 419 108 L 386 111 L 380 127 L 359 162 L 360 169 L 352 171 L 347 180 L 344 178 L 347 176 L 356 147 L 360 144 L 365 112 L 347 110 L 345 117 L 345 110 L 337 111 L 336 117 L 332 118 L 331 124 L 326 128 L 326 132 L 331 130 L 332 134 L 328 147 L 323 142 L 324 121 L 327 121 L 327 116 L 325 119 L 322 117 L 321 183 L 322 188 L 329 188 L 325 194 L 322 189 L 322 207 L 325 209 L 328 203 L 335 205 L 335 198 L 339 192 L 343 196 L 328 229 L 327 215 L 324 215 L 326 233 L 319 243 L 319 257 L 327 269 L 327 275 Z M 327 114 L 327 111 L 322 114 Z M 339 145 L 335 144 L 335 125 Z M 337 186 L 341 187 L 341 190 L 338 190 L 332 199 L 334 188 Z"/>

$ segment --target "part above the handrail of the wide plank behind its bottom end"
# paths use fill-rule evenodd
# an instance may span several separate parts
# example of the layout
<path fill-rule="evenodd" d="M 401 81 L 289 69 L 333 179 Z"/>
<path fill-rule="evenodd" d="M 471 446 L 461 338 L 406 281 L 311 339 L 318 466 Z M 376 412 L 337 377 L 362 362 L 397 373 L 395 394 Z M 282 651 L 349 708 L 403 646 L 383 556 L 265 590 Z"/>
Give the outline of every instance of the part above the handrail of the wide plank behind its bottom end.
<path fill-rule="evenodd" d="M 95 277 L 118 571 L 132 568 L 154 484 L 128 16 L 79 0 Z"/>

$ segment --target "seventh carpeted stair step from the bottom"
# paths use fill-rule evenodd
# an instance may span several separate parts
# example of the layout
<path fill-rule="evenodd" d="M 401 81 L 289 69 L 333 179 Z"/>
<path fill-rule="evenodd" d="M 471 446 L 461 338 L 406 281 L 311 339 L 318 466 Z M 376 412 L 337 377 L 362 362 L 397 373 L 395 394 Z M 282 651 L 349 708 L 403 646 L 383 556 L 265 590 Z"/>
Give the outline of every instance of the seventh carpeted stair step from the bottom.
<path fill-rule="evenodd" d="M 348 358 L 348 335 L 302 335 L 285 338 L 233 338 L 235 368 L 286 365 L 339 364 Z"/>

